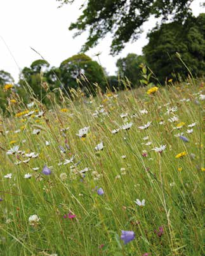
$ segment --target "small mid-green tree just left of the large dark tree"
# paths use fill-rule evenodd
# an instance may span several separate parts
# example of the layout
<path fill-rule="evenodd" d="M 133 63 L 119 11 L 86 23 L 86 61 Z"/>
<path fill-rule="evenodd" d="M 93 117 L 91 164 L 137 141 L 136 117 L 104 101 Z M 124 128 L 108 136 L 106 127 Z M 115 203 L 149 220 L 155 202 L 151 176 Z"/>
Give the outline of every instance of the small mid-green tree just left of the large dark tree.
<path fill-rule="evenodd" d="M 135 87 L 140 83 L 139 80 L 142 78 L 141 68 L 139 67 L 142 62 L 145 63 L 145 57 L 136 55 L 135 53 L 129 53 L 126 57 L 117 60 L 117 72 L 121 78 L 126 76 Z"/>

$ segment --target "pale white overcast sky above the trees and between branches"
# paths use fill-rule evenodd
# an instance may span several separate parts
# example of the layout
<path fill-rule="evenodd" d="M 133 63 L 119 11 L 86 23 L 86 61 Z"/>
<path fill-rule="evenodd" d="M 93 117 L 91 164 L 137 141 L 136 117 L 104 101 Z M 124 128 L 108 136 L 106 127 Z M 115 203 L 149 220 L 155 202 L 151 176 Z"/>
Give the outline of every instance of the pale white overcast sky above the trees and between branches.
<path fill-rule="evenodd" d="M 81 11 L 78 7 L 82 1 L 84 0 L 76 0 L 75 4 L 57 8 L 59 3 L 55 0 L 0 0 L 0 70 L 10 72 L 17 82 L 19 68 L 29 67 L 34 60 L 40 59 L 39 55 L 30 50 L 30 46 L 41 53 L 51 66 L 59 66 L 63 60 L 79 52 L 88 33 L 73 39 L 74 32 L 69 31 L 68 27 L 79 17 Z M 199 6 L 200 3 L 200 0 L 192 3 L 195 16 L 204 11 Z M 116 71 L 116 60 L 119 57 L 130 52 L 142 53 L 142 47 L 148 43 L 146 33 L 154 25 L 154 20 L 146 22 L 145 32 L 140 39 L 129 43 L 117 57 L 109 55 L 111 35 L 86 54 L 97 60 L 93 55 L 102 52 L 102 66 L 112 75 Z"/>

